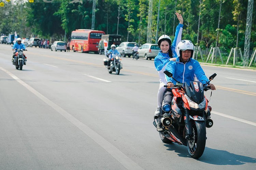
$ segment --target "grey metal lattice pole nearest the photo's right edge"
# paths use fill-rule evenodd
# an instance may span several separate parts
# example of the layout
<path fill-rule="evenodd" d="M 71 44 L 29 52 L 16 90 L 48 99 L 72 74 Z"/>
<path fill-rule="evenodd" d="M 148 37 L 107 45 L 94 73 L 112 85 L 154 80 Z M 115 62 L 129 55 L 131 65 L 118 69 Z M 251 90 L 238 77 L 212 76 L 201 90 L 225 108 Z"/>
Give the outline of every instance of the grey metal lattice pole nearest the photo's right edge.
<path fill-rule="evenodd" d="M 244 67 L 247 67 L 249 62 L 252 17 L 253 17 L 253 1 L 254 0 L 248 0 L 248 7 L 247 7 L 246 28 L 245 28 L 245 37 L 244 37 L 244 60 L 243 60 Z"/>

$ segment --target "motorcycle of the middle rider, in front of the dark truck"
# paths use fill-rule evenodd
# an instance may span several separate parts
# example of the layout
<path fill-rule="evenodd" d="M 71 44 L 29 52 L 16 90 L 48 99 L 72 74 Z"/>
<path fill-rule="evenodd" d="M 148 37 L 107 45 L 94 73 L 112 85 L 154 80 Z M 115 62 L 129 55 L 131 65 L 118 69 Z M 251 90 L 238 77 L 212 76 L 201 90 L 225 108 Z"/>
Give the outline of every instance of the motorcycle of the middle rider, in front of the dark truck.
<path fill-rule="evenodd" d="M 108 71 L 109 73 L 111 74 L 113 71 L 116 72 L 117 75 L 119 75 L 120 73 L 120 70 L 123 68 L 123 64 L 121 63 L 121 58 L 120 58 L 120 54 L 118 55 L 115 55 L 113 54 L 112 52 L 110 52 L 112 54 L 112 58 L 111 58 L 111 61 L 110 61 L 110 68 L 108 68 L 108 55 L 106 54 L 105 57 L 103 59 L 103 63 L 104 63 L 104 66 L 106 68 L 108 68 Z M 109 54 L 109 55 L 111 55 Z"/>

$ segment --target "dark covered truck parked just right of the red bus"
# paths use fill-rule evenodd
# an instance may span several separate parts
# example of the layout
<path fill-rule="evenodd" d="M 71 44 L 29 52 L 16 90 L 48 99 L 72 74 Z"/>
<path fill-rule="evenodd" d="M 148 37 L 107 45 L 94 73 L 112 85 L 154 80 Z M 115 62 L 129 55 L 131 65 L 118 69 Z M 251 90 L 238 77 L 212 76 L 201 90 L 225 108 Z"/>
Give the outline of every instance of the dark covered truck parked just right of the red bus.
<path fill-rule="evenodd" d="M 107 34 L 107 35 L 101 35 L 101 40 L 99 41 L 99 45 L 98 45 L 98 52 L 99 54 L 104 54 L 104 43 L 103 40 L 108 41 L 108 48 L 107 50 L 110 50 L 110 46 L 112 44 L 115 44 L 116 46 L 118 46 L 121 43 L 121 35 L 118 34 Z"/>

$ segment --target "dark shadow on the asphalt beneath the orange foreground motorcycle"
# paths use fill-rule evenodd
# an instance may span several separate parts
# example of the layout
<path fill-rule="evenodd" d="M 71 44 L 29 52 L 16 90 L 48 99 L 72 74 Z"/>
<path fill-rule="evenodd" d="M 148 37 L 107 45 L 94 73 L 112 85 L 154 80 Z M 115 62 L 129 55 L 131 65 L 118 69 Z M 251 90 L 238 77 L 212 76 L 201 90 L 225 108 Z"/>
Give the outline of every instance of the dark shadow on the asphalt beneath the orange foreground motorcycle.
<path fill-rule="evenodd" d="M 182 145 L 176 145 L 172 143 L 170 145 L 164 145 L 168 147 L 168 151 L 175 151 L 180 157 L 190 157 L 187 151 L 187 147 Z M 243 165 L 245 163 L 256 163 L 256 158 L 237 155 L 228 151 L 217 150 L 205 147 L 203 155 L 197 159 L 200 162 L 213 164 L 213 165 Z"/>

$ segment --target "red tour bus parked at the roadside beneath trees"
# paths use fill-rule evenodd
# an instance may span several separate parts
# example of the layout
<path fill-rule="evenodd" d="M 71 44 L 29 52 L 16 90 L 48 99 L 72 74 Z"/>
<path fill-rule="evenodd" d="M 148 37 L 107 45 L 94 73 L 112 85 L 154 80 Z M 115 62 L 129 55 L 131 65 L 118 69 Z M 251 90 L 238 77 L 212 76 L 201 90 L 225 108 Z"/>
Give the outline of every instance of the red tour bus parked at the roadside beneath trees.
<path fill-rule="evenodd" d="M 98 52 L 98 43 L 104 31 L 77 29 L 71 32 L 70 49 L 74 52 Z"/>

